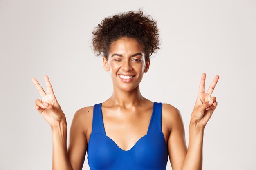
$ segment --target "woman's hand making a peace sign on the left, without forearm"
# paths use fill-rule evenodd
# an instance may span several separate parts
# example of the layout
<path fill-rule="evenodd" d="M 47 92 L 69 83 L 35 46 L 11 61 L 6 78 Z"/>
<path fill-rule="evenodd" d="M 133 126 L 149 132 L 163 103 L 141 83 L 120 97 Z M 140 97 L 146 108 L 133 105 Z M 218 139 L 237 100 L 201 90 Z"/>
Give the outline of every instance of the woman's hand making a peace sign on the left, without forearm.
<path fill-rule="evenodd" d="M 50 124 L 51 127 L 58 125 L 63 122 L 66 123 L 66 117 L 61 106 L 58 104 L 57 99 L 53 93 L 52 85 L 49 81 L 47 75 L 44 76 L 45 84 L 47 88 L 47 94 L 40 86 L 36 78 L 32 78 L 33 84 L 36 86 L 38 93 L 41 95 L 42 99 L 36 99 L 36 110 L 44 117 L 44 119 Z"/>

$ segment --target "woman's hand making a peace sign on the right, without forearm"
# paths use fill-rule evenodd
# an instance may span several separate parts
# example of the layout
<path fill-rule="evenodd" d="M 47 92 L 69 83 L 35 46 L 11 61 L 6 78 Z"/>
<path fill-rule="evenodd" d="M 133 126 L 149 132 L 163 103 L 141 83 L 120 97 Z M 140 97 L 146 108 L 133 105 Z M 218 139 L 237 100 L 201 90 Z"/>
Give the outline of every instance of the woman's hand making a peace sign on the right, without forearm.
<path fill-rule="evenodd" d="M 203 127 L 207 124 L 213 114 L 213 111 L 217 107 L 218 102 L 216 102 L 216 97 L 211 97 L 211 93 L 213 92 L 220 76 L 216 75 L 214 77 L 207 93 L 204 92 L 205 77 L 206 74 L 203 73 L 201 76 L 198 97 L 191 114 L 191 121 Z"/>

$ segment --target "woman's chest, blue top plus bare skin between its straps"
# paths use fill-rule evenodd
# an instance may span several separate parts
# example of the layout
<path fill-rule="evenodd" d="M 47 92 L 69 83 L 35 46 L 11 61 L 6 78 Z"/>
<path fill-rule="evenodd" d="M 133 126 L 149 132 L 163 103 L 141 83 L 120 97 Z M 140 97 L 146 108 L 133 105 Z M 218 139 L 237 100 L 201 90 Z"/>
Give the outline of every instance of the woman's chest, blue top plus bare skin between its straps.
<path fill-rule="evenodd" d="M 153 110 L 137 113 L 137 117 L 103 115 L 101 104 L 94 105 L 87 149 L 92 170 L 114 170 L 121 166 L 122 169 L 166 169 L 168 150 L 162 132 L 162 103 L 154 102 Z"/>

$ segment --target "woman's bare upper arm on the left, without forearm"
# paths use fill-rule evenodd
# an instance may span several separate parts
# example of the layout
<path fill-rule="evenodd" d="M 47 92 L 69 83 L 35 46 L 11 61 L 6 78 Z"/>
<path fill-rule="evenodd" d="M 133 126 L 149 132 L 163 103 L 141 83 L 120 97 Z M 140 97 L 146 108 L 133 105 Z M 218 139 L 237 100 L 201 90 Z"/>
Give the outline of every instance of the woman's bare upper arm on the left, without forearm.
<path fill-rule="evenodd" d="M 85 114 L 83 109 L 77 110 L 70 127 L 70 144 L 67 150 L 67 155 L 73 170 L 82 169 L 87 151 L 84 119 Z"/>

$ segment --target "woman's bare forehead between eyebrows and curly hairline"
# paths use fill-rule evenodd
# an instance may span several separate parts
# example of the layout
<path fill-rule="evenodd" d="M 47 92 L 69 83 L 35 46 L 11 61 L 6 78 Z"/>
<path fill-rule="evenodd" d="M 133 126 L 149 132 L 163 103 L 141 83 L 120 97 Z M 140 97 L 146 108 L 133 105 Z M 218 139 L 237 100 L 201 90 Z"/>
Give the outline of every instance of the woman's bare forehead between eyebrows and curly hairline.
<path fill-rule="evenodd" d="M 110 44 L 109 53 L 123 52 L 134 53 L 142 52 L 143 46 L 135 38 L 122 37 Z"/>

